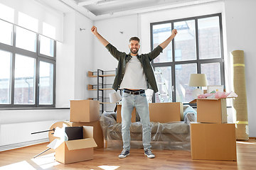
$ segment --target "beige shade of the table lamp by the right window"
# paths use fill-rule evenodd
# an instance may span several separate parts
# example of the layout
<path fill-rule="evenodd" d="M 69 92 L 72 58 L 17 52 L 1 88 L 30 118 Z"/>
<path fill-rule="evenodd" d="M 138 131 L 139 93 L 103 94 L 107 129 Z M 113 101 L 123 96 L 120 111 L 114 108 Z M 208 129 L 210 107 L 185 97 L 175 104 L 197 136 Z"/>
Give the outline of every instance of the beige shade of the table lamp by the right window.
<path fill-rule="evenodd" d="M 207 86 L 206 74 L 190 74 L 188 86 Z"/>

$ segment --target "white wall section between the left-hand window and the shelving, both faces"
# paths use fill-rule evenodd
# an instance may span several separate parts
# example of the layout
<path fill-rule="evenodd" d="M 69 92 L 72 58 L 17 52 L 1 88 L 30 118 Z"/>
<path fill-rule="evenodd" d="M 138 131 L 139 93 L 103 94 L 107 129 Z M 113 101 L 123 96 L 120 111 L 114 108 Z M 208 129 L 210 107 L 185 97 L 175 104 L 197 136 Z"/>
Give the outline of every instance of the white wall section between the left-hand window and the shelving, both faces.
<path fill-rule="evenodd" d="M 80 13 L 65 13 L 64 41 L 57 47 L 57 108 L 70 107 L 70 100 L 90 97 L 87 72 L 93 70 L 94 62 L 91 26 L 92 21 Z"/>

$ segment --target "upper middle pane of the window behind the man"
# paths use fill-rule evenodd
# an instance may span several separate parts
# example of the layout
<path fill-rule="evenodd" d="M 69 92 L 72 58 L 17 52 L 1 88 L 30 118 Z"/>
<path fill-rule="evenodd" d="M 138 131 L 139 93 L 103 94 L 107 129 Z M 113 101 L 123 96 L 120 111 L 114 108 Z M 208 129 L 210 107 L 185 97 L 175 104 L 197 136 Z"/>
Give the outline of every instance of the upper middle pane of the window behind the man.
<path fill-rule="evenodd" d="M 196 60 L 196 32 L 195 21 L 181 21 L 174 23 L 178 35 L 174 40 L 175 61 Z"/>

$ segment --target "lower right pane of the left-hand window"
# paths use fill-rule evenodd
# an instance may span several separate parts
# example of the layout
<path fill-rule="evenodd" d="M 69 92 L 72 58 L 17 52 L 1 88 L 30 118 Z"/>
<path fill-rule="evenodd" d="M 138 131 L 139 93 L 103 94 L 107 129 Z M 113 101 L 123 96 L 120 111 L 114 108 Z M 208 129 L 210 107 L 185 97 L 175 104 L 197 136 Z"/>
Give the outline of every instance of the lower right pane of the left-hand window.
<path fill-rule="evenodd" d="M 39 104 L 53 104 L 53 64 L 40 62 Z"/>

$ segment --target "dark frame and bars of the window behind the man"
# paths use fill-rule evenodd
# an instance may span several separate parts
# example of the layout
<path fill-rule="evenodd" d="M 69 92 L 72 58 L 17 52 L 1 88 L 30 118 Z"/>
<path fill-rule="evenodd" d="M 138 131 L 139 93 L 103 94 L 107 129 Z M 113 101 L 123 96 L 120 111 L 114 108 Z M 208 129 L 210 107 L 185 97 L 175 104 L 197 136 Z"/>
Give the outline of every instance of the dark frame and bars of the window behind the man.
<path fill-rule="evenodd" d="M 209 18 L 213 16 L 218 16 L 219 17 L 219 27 L 220 27 L 220 58 L 214 58 L 214 59 L 199 59 L 199 40 L 198 40 L 198 19 L 201 18 Z M 206 63 L 213 63 L 213 62 L 218 62 L 220 63 L 220 84 L 224 85 L 225 89 L 225 69 L 224 69 L 224 51 L 223 51 L 223 26 L 222 26 L 222 16 L 221 13 L 214 13 L 210 15 L 205 15 L 205 16 L 196 16 L 196 17 L 190 17 L 190 18 L 180 18 L 176 20 L 170 20 L 170 21 L 161 21 L 161 22 L 156 22 L 156 23 L 150 23 L 150 44 L 151 44 L 151 50 L 154 48 L 154 43 L 153 43 L 153 26 L 154 25 L 159 25 L 159 24 L 164 24 L 164 23 L 171 23 L 171 28 L 174 29 L 174 23 L 179 22 L 179 21 L 188 21 L 188 20 L 195 20 L 195 26 L 196 26 L 196 60 L 185 60 L 185 61 L 175 61 L 175 47 L 174 47 L 174 42 L 175 38 L 171 41 L 171 48 L 172 48 L 172 62 L 159 62 L 159 63 L 154 63 L 154 60 L 151 61 L 151 65 L 153 69 L 155 70 L 156 67 L 171 67 L 171 98 L 172 102 L 176 102 L 176 72 L 175 72 L 175 65 L 176 64 L 191 64 L 191 63 L 196 63 L 197 64 L 197 72 L 198 74 L 201 73 L 201 64 L 206 64 Z M 167 39 L 168 37 L 166 37 Z M 160 44 L 161 42 L 159 42 Z M 153 96 L 153 103 L 155 103 L 155 94 Z M 189 101 L 188 101 L 189 102 Z M 191 104 L 193 106 L 194 104 Z"/>

